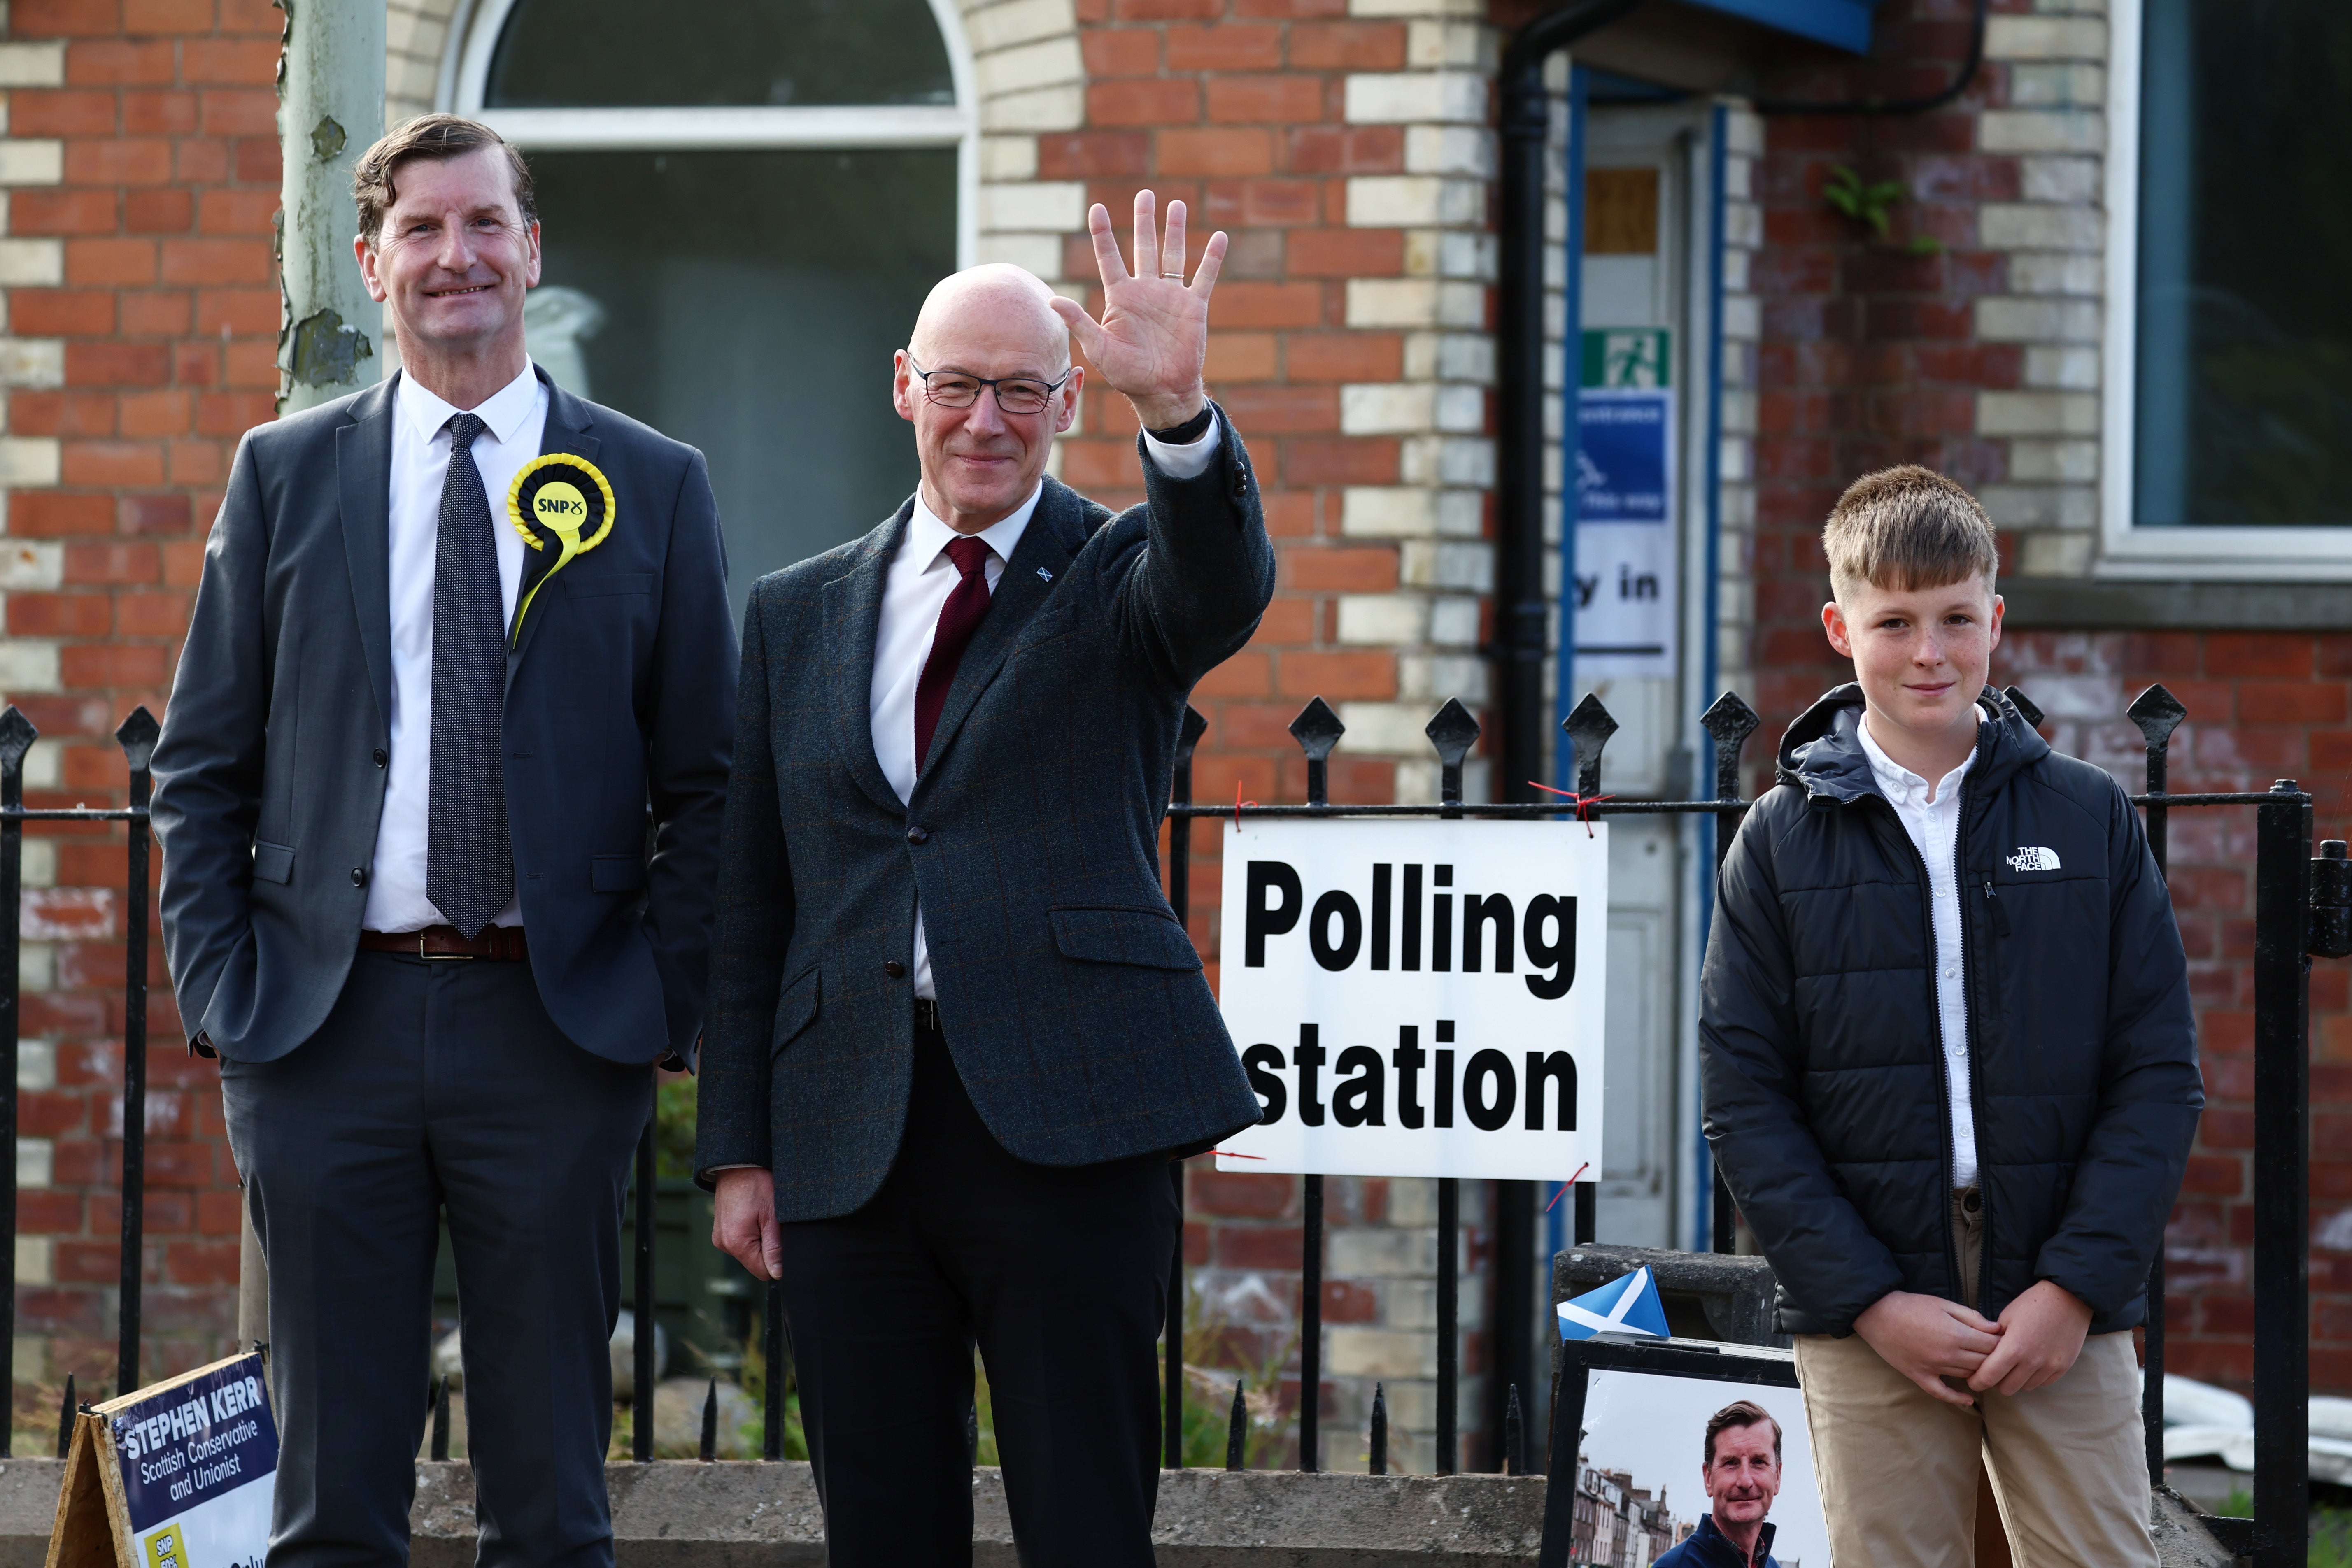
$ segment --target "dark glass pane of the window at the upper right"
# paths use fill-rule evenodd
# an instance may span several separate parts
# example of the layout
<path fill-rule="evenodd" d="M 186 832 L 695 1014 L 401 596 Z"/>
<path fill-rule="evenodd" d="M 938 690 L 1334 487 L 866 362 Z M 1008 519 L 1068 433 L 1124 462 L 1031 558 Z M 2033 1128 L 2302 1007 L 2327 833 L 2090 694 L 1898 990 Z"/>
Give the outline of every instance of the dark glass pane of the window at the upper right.
<path fill-rule="evenodd" d="M 2352 524 L 2352 7 L 2145 21 L 2133 520 Z"/>

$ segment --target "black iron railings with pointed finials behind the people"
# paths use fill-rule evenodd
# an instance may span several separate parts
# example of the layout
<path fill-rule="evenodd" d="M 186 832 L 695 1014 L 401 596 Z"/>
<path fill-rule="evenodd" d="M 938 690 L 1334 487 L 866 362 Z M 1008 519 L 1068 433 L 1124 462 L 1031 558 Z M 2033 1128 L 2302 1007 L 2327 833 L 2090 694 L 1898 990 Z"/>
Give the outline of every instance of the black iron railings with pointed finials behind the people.
<path fill-rule="evenodd" d="M 2016 686 L 2006 693 L 2032 722 L 2042 712 Z M 2253 1403 L 2256 1403 L 2256 1521 L 2237 1542 L 2251 1549 L 2263 1568 L 2291 1561 L 2300 1554 L 2305 1516 L 2305 1446 L 2307 1446 L 2307 1366 L 2310 1366 L 2310 1298 L 2307 1298 L 2307 1168 L 2310 1168 L 2310 959 L 2352 954 L 2352 858 L 2343 842 L 2328 842 L 2321 858 L 2312 858 L 2312 797 L 2293 780 L 2279 780 L 2263 792 L 2197 792 L 2171 795 L 2166 790 L 2166 764 L 2171 736 L 2187 717 L 2187 710 L 2164 686 L 2143 691 L 2126 717 L 2138 724 L 2147 745 L 2147 792 L 2133 802 L 2147 813 L 2150 844 L 2157 867 L 2169 865 L 2171 811 L 2183 806 L 2256 806 L 2256 1157 L 2253 1157 L 2253 1288 L 2256 1288 L 2256 1335 L 2253 1335 Z M 1595 698 L 1585 696 L 1562 722 L 1566 743 L 1576 759 L 1578 816 L 1696 816 L 1715 825 L 1715 858 L 1722 863 L 1738 827 L 1740 816 L 1752 804 L 1740 797 L 1740 757 L 1759 719 L 1748 703 L 1724 693 L 1700 715 L 1715 743 L 1715 795 L 1708 799 L 1604 799 L 1599 790 L 1602 752 L 1618 731 L 1616 719 Z M 1190 914 L 1192 900 L 1192 820 L 1207 816 L 1237 813 L 1279 818 L 1345 818 L 1345 816 L 1435 816 L 1435 818 L 1522 818 L 1545 820 L 1571 816 L 1559 804 L 1475 804 L 1463 802 L 1463 766 L 1479 741 L 1479 724 L 1458 701 L 1446 701 L 1430 719 L 1425 733 L 1439 762 L 1437 804 L 1334 804 L 1329 797 L 1329 759 L 1345 726 L 1322 701 L 1312 698 L 1291 722 L 1308 764 L 1308 799 L 1303 804 L 1195 804 L 1192 802 L 1192 752 L 1207 731 L 1207 722 L 1188 710 L 1181 733 L 1174 802 L 1169 804 L 1169 903 L 1178 919 Z M 153 752 L 158 724 L 139 708 L 115 731 L 129 771 L 129 804 L 120 809 L 28 809 L 24 804 L 26 755 L 38 738 L 31 719 L 16 708 L 0 712 L 0 1133 L 9 1150 L 16 1143 L 16 1053 L 19 1053 L 19 969 L 21 900 L 24 900 L 24 825 L 26 823 L 129 823 L 129 870 L 125 886 L 125 1023 L 122 1023 L 122 1284 L 118 1319 L 115 1389 L 139 1387 L 139 1331 L 141 1331 L 141 1222 L 146 1192 L 146 969 L 148 969 L 148 882 L 151 882 L 151 813 Z M 1178 1213 L 1183 1206 L 1183 1168 L 1171 1168 Z M 16 1291 L 16 1161 L 0 1161 L 0 1260 L 9 1269 L 9 1288 L 0 1291 L 0 1342 L 14 1338 Z M 637 1460 L 654 1455 L 654 1126 L 647 1121 L 637 1147 L 637 1225 L 635 1225 L 635 1415 L 633 1450 Z M 1576 1241 L 1592 1241 L 1595 1182 L 1576 1182 L 1573 1234 Z M 1303 1178 L 1303 1255 L 1301 1255 L 1301 1368 L 1298 1368 L 1298 1462 L 1301 1469 L 1317 1469 L 1322 1453 L 1322 1178 Z M 1715 1182 L 1712 1246 L 1731 1251 L 1738 1218 L 1731 1199 Z M 1167 1331 L 1167 1450 L 1171 1467 L 1183 1465 L 1183 1241 L 1178 1227 L 1176 1255 L 1169 1269 L 1169 1331 Z M 1508 1237 L 1505 1246 L 1522 1241 Z M 1458 1392 L 1461 1392 L 1461 1182 L 1442 1178 L 1437 1182 L 1437 1469 L 1451 1474 L 1458 1467 Z M 779 1291 L 767 1288 L 764 1312 L 767 1354 L 767 1441 L 764 1458 L 783 1458 L 786 1429 L 786 1363 L 790 1345 L 783 1331 Z M 1501 1443 L 1501 1462 L 1510 1469 L 1526 1469 L 1529 1455 L 1512 1420 L 1519 1408 L 1519 1389 L 1508 1396 Z M 61 1415 L 71 1418 L 73 1401 Z M 703 1401 L 703 1458 L 715 1446 L 715 1387 Z M 2150 1476 L 2164 1472 L 2164 1262 L 2161 1255 L 2150 1274 L 2147 1314 L 2147 1467 Z M 1247 1406 L 1240 1385 L 1235 1387 L 1228 1469 L 1244 1465 Z M 433 1448 L 447 1453 L 447 1389 L 435 1389 Z M 1385 1392 L 1374 1396 L 1374 1420 L 1369 1427 L 1371 1465 L 1388 1469 L 1388 1420 Z M 7 1453 L 7 1434 L 0 1432 L 0 1455 Z"/>

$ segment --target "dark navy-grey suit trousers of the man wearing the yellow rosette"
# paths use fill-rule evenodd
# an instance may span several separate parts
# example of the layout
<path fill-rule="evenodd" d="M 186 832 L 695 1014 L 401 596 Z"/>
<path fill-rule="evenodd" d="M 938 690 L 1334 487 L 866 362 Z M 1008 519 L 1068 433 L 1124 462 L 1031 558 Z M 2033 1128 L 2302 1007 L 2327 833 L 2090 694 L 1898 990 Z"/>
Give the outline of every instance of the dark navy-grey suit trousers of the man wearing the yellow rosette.
<path fill-rule="evenodd" d="M 270 1265 L 268 1568 L 409 1556 L 440 1215 L 487 1568 L 612 1568 L 621 1201 L 652 1070 L 574 1046 L 529 964 L 360 952 L 327 1023 L 221 1063 Z"/>

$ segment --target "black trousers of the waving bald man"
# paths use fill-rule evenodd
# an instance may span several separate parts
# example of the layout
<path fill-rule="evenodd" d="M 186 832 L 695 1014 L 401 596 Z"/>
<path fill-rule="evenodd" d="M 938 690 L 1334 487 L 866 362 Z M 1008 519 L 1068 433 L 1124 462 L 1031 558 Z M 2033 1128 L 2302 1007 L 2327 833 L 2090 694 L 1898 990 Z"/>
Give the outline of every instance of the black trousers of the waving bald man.
<path fill-rule="evenodd" d="M 1150 1568 L 1169 1161 L 1033 1166 L 915 1032 L 882 1192 L 783 1227 L 783 1312 L 830 1568 L 971 1563 L 971 1347 L 1023 1568 Z"/>

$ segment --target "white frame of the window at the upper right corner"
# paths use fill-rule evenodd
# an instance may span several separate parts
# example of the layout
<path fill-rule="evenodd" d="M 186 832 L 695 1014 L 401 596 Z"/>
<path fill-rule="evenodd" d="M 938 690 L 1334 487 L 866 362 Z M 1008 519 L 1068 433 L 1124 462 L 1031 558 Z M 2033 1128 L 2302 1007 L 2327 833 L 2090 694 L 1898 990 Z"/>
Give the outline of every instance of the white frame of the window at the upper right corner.
<path fill-rule="evenodd" d="M 2131 522 L 2140 353 L 2140 38 L 2143 0 L 2107 14 L 2107 355 L 2100 458 L 2103 578 L 2352 581 L 2352 529 L 2239 529 Z"/>

